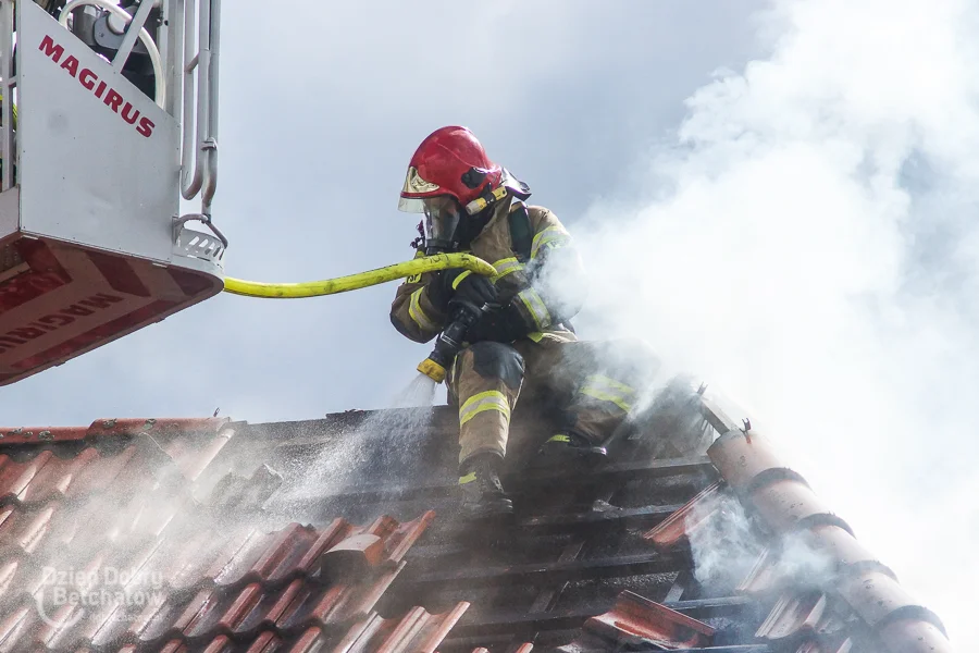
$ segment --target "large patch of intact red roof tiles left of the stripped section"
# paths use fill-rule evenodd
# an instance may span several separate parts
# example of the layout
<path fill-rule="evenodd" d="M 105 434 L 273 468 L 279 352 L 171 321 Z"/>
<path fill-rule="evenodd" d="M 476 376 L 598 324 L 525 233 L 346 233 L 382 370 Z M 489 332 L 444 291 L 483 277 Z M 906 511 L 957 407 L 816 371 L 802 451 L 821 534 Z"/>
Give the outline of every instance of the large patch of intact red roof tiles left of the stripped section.
<path fill-rule="evenodd" d="M 432 512 L 269 529 L 255 519 L 282 479 L 264 466 L 196 498 L 195 482 L 234 435 L 228 420 L 2 432 L 2 651 L 301 651 L 344 638 L 350 651 L 433 651 L 468 605 L 387 620 L 372 612 Z M 69 441 L 84 444 L 58 444 Z M 250 513 L 222 520 L 230 506 Z M 124 582 L 110 569 L 142 576 Z M 54 588 L 98 600 L 72 604 Z"/>

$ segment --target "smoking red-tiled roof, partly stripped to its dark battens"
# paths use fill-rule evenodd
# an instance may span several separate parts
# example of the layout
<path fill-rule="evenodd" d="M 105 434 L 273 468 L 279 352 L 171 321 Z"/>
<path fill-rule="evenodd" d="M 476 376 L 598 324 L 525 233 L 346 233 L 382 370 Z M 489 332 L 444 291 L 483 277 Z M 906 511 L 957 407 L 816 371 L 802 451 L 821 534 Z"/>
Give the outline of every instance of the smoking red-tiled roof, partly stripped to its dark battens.
<path fill-rule="evenodd" d="M 593 473 L 509 469 L 490 531 L 456 513 L 447 408 L 2 429 L 0 653 L 951 651 L 764 436 L 696 407 L 707 456 L 650 459 L 654 420 Z M 747 563 L 708 582 L 705 543 Z"/>

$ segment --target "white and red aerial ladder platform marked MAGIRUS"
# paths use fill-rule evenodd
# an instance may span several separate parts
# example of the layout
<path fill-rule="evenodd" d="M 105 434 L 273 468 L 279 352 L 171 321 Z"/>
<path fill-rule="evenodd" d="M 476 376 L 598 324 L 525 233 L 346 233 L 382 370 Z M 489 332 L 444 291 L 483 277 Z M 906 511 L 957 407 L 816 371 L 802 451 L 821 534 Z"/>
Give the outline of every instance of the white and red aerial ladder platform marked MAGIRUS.
<path fill-rule="evenodd" d="M 0 385 L 224 288 L 219 22 L 220 0 L 0 0 Z"/>

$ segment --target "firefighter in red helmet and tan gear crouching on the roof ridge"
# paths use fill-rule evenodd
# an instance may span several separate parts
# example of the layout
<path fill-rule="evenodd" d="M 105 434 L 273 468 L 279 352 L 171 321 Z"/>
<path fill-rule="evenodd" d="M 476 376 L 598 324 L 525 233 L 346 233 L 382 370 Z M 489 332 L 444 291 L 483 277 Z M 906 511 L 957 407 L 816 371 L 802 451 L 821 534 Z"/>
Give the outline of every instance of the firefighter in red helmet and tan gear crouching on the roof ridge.
<path fill-rule="evenodd" d="M 571 472 L 605 458 L 602 442 L 650 372 L 645 356 L 622 360 L 606 343 L 575 337 L 570 320 L 587 285 L 581 258 L 558 218 L 529 197 L 468 128 L 447 126 L 418 147 L 398 202 L 424 215 L 419 255 L 470 251 L 496 269 L 493 278 L 461 270 L 410 278 L 391 309 L 402 335 L 425 343 L 446 326 L 454 303 L 498 307 L 469 328 L 446 378 L 459 407 L 459 486 L 473 517 L 512 512 L 499 469 L 519 396 L 556 399 L 563 409 L 565 428 L 532 464 Z"/>

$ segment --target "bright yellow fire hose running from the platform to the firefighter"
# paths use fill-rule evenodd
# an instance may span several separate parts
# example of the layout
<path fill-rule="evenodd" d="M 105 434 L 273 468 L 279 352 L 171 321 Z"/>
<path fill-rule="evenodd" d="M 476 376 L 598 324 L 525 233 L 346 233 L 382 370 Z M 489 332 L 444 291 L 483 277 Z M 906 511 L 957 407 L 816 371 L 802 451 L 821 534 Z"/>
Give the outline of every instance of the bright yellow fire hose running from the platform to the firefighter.
<path fill-rule="evenodd" d="M 463 268 L 475 274 L 493 276 L 496 270 L 481 258 L 471 254 L 437 254 L 423 256 L 402 263 L 368 270 L 359 274 L 324 279 L 323 281 L 307 281 L 305 283 L 260 283 L 257 281 L 243 281 L 240 279 L 224 279 L 224 292 L 246 297 L 264 297 L 270 299 L 299 299 L 301 297 L 320 297 L 322 295 L 335 295 L 348 291 L 357 291 L 368 286 L 386 283 L 396 279 L 447 270 L 449 268 Z"/>

